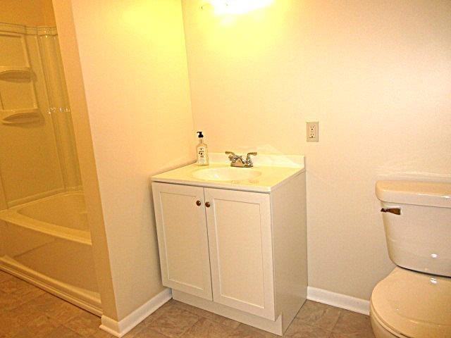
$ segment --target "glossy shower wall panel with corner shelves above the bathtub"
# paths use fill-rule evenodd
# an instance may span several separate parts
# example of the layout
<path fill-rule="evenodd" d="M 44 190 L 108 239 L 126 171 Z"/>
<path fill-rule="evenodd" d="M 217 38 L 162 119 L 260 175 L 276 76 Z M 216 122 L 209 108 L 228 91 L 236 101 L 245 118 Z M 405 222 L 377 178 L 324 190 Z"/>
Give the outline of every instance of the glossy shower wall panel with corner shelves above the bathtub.
<path fill-rule="evenodd" d="M 0 210 L 80 189 L 56 31 L 0 23 L 0 51 L 0 70 L 24 70 L 0 74 Z"/>

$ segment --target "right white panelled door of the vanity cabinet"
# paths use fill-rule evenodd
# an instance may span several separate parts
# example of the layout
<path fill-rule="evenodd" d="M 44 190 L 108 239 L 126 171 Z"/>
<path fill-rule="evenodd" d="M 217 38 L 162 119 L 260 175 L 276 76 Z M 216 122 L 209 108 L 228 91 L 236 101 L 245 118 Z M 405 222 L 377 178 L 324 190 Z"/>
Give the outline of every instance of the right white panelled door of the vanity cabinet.
<path fill-rule="evenodd" d="M 275 320 L 269 194 L 205 188 L 213 300 Z"/>

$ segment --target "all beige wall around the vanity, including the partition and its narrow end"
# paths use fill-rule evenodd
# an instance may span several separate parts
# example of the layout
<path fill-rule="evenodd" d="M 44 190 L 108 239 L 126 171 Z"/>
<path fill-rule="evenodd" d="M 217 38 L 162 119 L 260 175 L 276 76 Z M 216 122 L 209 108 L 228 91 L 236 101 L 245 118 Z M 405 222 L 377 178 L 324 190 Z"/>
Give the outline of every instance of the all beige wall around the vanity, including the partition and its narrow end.
<path fill-rule="evenodd" d="M 183 0 L 194 126 L 211 151 L 306 154 L 309 284 L 368 299 L 393 267 L 374 182 L 449 177 L 450 3 L 277 0 L 237 17 L 202 4 Z M 149 175 L 194 157 L 180 3 L 56 9 L 102 303 L 121 319 L 162 289 Z"/>

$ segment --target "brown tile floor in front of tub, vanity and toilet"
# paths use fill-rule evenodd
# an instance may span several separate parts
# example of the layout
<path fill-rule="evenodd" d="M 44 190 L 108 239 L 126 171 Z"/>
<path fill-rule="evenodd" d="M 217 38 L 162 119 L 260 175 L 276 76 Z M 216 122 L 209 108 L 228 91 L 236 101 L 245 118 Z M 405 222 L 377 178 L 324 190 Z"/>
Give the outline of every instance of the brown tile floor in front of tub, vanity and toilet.
<path fill-rule="evenodd" d="M 0 271 L 0 338 L 111 338 L 100 319 Z M 278 337 L 235 320 L 168 301 L 125 338 Z M 288 328 L 288 338 L 374 338 L 369 317 L 307 301 Z"/>

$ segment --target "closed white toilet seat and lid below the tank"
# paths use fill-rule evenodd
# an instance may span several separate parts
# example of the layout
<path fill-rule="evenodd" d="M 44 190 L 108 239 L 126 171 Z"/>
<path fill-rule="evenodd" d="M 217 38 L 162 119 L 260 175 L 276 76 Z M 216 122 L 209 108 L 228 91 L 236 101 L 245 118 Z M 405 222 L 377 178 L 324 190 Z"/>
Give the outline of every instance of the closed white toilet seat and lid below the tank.
<path fill-rule="evenodd" d="M 397 337 L 451 337 L 451 278 L 395 268 L 373 289 L 371 311 Z"/>

